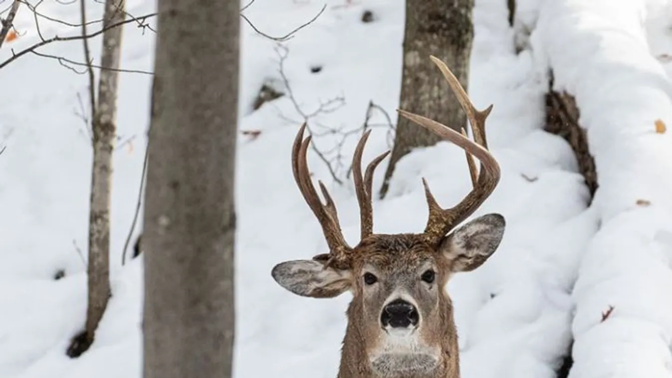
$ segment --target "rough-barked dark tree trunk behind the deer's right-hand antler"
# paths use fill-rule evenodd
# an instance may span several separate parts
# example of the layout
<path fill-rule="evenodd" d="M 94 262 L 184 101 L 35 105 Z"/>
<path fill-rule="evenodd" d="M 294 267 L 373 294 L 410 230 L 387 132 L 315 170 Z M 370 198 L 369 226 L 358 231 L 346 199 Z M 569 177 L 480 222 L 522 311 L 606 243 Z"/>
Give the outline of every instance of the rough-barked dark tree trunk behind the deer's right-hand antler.
<path fill-rule="evenodd" d="M 471 19 L 474 0 L 406 0 L 404 66 L 399 107 L 429 117 L 460 130 L 466 115 L 450 91 L 438 68 L 429 60 L 433 55 L 448 64 L 467 89 L 469 57 L 474 26 Z M 432 146 L 435 134 L 397 116 L 396 137 L 385 179 L 380 189 L 384 197 L 394 166 L 416 147 Z"/>

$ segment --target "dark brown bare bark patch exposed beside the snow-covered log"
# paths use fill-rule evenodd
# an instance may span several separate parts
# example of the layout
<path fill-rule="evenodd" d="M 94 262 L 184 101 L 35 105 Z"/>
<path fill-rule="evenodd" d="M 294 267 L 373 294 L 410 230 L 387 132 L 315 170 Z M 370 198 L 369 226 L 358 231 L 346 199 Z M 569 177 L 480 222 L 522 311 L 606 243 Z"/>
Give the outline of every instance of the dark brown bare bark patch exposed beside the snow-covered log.
<path fill-rule="evenodd" d="M 549 83 L 546 94 L 546 127 L 544 130 L 566 140 L 577 156 L 579 173 L 583 175 L 591 199 L 597 190 L 597 172 L 595 160 L 590 154 L 585 130 L 579 125 L 579 108 L 569 93 L 558 93 L 552 90 L 553 79 Z"/>

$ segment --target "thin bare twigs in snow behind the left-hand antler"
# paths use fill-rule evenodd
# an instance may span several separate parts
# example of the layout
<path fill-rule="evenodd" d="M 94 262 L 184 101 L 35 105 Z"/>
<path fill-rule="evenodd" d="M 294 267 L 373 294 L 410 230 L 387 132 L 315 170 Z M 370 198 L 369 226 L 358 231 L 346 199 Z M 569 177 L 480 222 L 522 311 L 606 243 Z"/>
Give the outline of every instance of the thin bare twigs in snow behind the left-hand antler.
<path fill-rule="evenodd" d="M 327 169 L 329 170 L 329 173 L 331 174 L 331 177 L 335 181 L 335 183 L 343 185 L 343 179 L 339 177 L 339 172 L 345 170 L 346 171 L 345 178 L 349 178 L 351 172 L 352 168 L 351 164 L 346 166 L 344 163 L 346 156 L 345 154 L 343 154 L 343 146 L 345 145 L 345 141 L 347 140 L 347 138 L 354 135 L 364 134 L 364 132 L 366 132 L 366 130 L 370 128 L 382 127 L 388 129 L 388 146 L 392 145 L 393 142 L 392 131 L 394 130 L 392 119 L 390 118 L 390 115 L 382 107 L 380 107 L 380 105 L 376 105 L 376 103 L 374 103 L 373 101 L 369 101 L 368 103 L 364 124 L 362 124 L 360 128 L 345 131 L 343 130 L 344 127 L 333 128 L 330 126 L 325 126 L 319 122 L 312 122 L 313 126 L 310 126 L 309 121 L 313 120 L 314 117 L 326 113 L 332 113 L 334 111 L 337 111 L 339 108 L 343 107 L 343 105 L 345 105 L 345 98 L 341 95 L 324 102 L 321 101 L 317 109 L 314 109 L 313 111 L 310 112 L 305 111 L 304 109 L 302 109 L 301 105 L 299 105 L 298 99 L 296 99 L 296 97 L 294 96 L 294 92 L 292 91 L 292 87 L 290 86 L 289 79 L 285 74 L 284 62 L 289 54 L 288 48 L 286 46 L 283 46 L 282 44 L 278 44 L 278 46 L 276 46 L 276 53 L 278 54 L 279 57 L 278 73 L 280 74 L 280 78 L 282 79 L 282 83 L 285 87 L 286 95 L 288 99 L 290 99 L 290 101 L 292 102 L 292 105 L 294 105 L 294 110 L 296 111 L 296 113 L 298 113 L 302 117 L 302 120 L 301 121 L 292 120 L 289 117 L 283 115 L 282 113 L 280 113 L 280 117 L 282 117 L 284 120 L 288 122 L 292 122 L 297 125 L 303 124 L 304 122 L 306 123 L 306 130 L 308 130 L 308 134 L 310 134 L 310 136 L 312 136 L 313 138 L 312 143 L 310 143 L 310 148 L 317 154 L 320 160 L 322 160 L 327 165 Z M 378 110 L 384 115 L 384 117 L 386 118 L 386 123 L 371 124 L 369 122 L 374 110 Z M 328 150 L 321 150 L 315 143 L 315 138 L 319 138 L 321 136 L 336 136 L 336 135 L 339 136 L 339 139 L 337 140 L 336 144 L 331 148 L 329 148 Z M 333 156 L 327 157 L 330 155 Z M 347 167 L 347 169 L 345 167 Z"/>

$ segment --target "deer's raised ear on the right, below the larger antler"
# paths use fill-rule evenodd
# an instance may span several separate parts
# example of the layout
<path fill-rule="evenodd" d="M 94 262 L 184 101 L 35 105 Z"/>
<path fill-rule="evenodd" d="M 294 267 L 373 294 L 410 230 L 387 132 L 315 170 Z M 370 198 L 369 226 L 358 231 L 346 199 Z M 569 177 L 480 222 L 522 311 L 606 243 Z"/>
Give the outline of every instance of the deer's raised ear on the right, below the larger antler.
<path fill-rule="evenodd" d="M 448 234 L 441 242 L 439 252 L 450 262 L 451 271 L 472 271 L 497 250 L 505 226 L 500 214 L 481 216 Z"/>

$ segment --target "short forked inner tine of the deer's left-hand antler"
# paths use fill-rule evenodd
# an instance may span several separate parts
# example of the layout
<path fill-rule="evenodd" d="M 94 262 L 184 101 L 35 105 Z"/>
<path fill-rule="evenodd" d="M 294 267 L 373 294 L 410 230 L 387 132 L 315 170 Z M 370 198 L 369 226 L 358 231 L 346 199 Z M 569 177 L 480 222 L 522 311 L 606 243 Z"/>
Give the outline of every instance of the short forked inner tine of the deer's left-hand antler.
<path fill-rule="evenodd" d="M 361 222 L 361 232 L 360 239 L 364 239 L 367 236 L 373 234 L 374 230 L 374 220 L 373 220 L 373 204 L 371 191 L 373 186 L 373 176 L 376 167 L 382 161 L 382 159 L 387 156 L 390 151 L 386 151 L 378 155 L 374 160 L 372 160 L 366 167 L 366 173 L 362 177 L 362 152 L 364 152 L 364 146 L 366 141 L 371 134 L 371 130 L 368 130 L 360 138 L 357 147 L 355 148 L 355 154 L 352 158 L 352 173 L 353 179 L 355 181 L 355 193 L 357 194 L 357 201 L 360 203 L 360 222 Z"/>

